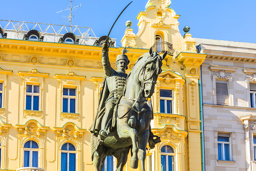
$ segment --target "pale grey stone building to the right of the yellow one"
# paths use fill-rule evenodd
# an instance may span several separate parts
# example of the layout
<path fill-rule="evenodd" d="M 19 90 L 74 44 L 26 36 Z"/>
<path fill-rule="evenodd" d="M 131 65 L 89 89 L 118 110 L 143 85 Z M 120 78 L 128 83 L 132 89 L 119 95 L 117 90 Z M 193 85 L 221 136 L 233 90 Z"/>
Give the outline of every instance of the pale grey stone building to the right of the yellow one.
<path fill-rule="evenodd" d="M 196 39 L 202 69 L 205 169 L 256 170 L 256 44 Z"/>

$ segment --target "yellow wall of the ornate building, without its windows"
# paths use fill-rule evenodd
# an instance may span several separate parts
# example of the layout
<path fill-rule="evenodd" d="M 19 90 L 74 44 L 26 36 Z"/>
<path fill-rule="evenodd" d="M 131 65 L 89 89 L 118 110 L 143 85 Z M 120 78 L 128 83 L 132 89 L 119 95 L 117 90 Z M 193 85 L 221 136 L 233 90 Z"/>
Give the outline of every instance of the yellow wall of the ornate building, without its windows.
<path fill-rule="evenodd" d="M 127 55 L 131 62 L 127 72 L 131 71 L 136 59 L 155 43 L 156 34 L 162 34 L 164 41 L 173 44 L 174 56 L 167 55 L 163 60 L 163 72 L 158 77 L 151 98 L 154 109 L 152 132 L 161 136 L 162 142 L 148 150 L 147 155 L 152 155 L 153 170 L 161 170 L 161 147 L 170 145 L 175 150 L 176 170 L 201 170 L 198 79 L 200 65 L 206 55 L 196 53 L 191 34 L 182 37 L 179 33 L 179 15 L 168 7 L 169 4 L 169 0 L 150 1 L 145 12 L 140 12 L 137 17 L 138 33 L 126 32 L 122 44 L 132 47 L 128 48 L 130 52 Z M 160 9 L 162 18 L 157 17 Z M 164 24 L 159 23 L 160 19 Z M 128 38 L 131 41 L 124 42 Z M 60 170 L 61 145 L 70 142 L 77 148 L 78 170 L 94 170 L 90 152 L 91 134 L 87 129 L 96 113 L 104 76 L 102 48 L 13 39 L 0 39 L 0 45 L 0 82 L 4 84 L 3 109 L 0 109 L 1 169 L 23 167 L 24 143 L 34 140 L 40 146 L 39 167 Z M 122 49 L 110 48 L 113 67 Z M 40 111 L 25 110 L 26 84 L 40 85 Z M 63 87 L 77 89 L 76 114 L 62 113 Z M 173 114 L 160 113 L 160 89 L 173 90 Z M 35 130 L 40 129 L 39 136 L 30 131 L 28 135 L 24 134 L 25 128 L 31 128 L 31 125 Z M 63 138 L 62 130 L 69 128 L 72 133 L 70 136 L 65 133 Z M 77 137 L 74 136 L 75 131 Z M 129 161 L 127 163 L 129 165 Z M 146 160 L 146 166 L 147 163 Z M 134 170 L 128 165 L 126 170 Z"/>

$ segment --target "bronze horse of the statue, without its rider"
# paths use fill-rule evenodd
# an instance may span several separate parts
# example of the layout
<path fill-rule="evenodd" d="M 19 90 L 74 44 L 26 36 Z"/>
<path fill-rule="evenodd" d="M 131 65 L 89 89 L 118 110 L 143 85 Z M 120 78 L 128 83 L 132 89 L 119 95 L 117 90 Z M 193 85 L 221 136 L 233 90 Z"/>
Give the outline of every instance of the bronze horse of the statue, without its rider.
<path fill-rule="evenodd" d="M 167 51 L 160 56 L 153 52 L 151 47 L 150 52 L 136 61 L 117 104 L 116 126 L 103 144 L 92 151 L 93 163 L 97 171 L 102 171 L 106 156 L 111 155 L 117 158 L 116 171 L 122 171 L 130 148 L 130 166 L 138 168 L 140 159 L 141 171 L 145 171 L 146 146 L 150 122 L 153 119 L 153 112 L 146 102 L 154 93 L 157 77 L 162 72 L 162 60 L 166 55 Z M 92 138 L 96 137 L 92 136 Z"/>

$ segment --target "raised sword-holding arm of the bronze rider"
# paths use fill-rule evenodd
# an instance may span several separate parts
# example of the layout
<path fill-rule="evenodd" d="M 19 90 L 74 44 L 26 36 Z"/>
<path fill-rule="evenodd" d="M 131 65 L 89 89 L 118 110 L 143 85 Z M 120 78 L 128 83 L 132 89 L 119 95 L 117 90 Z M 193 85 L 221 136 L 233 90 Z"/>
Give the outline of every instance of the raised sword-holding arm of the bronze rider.
<path fill-rule="evenodd" d="M 109 45 L 108 43 L 103 43 L 103 49 L 102 49 L 102 55 L 101 55 L 101 60 L 102 60 L 102 65 L 103 65 L 103 69 L 105 72 L 105 75 L 107 77 L 112 76 L 113 74 L 113 68 L 111 67 L 111 64 L 109 62 Z"/>

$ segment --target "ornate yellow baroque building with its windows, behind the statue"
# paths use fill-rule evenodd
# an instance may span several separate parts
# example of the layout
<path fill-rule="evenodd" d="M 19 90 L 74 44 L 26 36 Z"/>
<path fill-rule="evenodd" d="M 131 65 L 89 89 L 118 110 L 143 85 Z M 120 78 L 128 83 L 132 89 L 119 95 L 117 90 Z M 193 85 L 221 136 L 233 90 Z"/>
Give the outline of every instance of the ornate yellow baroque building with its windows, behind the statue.
<path fill-rule="evenodd" d="M 180 34 L 170 4 L 148 1 L 137 16 L 138 33 L 126 22 L 123 47 L 112 43 L 109 57 L 115 69 L 116 56 L 127 47 L 130 72 L 151 46 L 160 54 L 168 51 L 150 99 L 152 132 L 161 143 L 147 150 L 146 169 L 203 170 L 200 65 L 206 54 L 196 52 L 188 28 Z M 19 36 L 10 37 L 14 33 Z M 94 170 L 88 129 L 104 78 L 101 41 L 85 45 L 66 33 L 49 42 L 48 34 L 34 29 L 0 28 L 0 34 L 0 170 Z M 107 157 L 104 171 L 115 163 Z M 129 161 L 124 170 L 133 170 Z"/>

